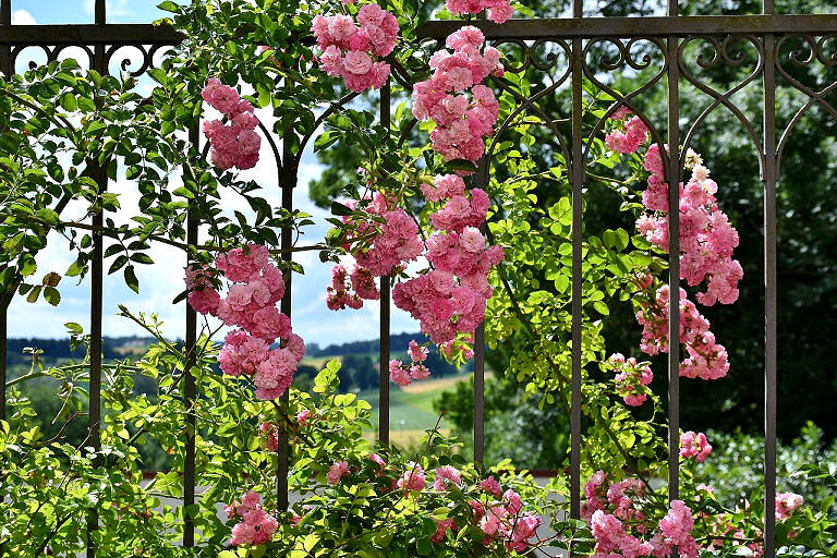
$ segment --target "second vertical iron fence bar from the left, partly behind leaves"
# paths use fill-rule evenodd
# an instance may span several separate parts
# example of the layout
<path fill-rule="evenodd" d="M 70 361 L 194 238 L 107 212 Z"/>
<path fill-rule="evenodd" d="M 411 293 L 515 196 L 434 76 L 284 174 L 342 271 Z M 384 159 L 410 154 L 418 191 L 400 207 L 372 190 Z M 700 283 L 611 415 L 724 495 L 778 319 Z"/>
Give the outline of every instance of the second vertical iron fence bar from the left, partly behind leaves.
<path fill-rule="evenodd" d="M 96 0 L 95 4 L 96 28 L 105 28 L 106 4 L 105 0 Z M 107 73 L 105 64 L 105 45 L 96 45 L 94 48 L 93 69 L 101 75 Z M 108 190 L 107 162 L 93 159 L 93 175 L 100 193 Z M 93 260 L 90 263 L 90 376 L 88 386 L 88 446 L 97 453 L 94 458 L 94 468 L 99 466 L 101 459 L 98 452 L 101 448 L 101 320 L 104 299 L 104 271 L 105 271 L 105 239 L 101 229 L 105 225 L 105 209 L 99 208 L 93 216 Z M 96 556 L 96 542 L 94 533 L 99 527 L 98 510 L 93 508 L 87 514 L 87 558 Z"/>

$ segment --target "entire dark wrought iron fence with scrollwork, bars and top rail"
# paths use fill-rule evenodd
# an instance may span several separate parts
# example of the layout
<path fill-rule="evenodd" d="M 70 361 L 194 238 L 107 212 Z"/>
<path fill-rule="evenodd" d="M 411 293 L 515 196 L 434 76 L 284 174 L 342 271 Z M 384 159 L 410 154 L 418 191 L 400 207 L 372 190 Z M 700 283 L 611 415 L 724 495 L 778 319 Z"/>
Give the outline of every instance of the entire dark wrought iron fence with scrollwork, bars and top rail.
<path fill-rule="evenodd" d="M 572 1 L 571 17 L 543 19 L 543 20 L 512 20 L 504 25 L 496 25 L 486 21 L 477 21 L 486 37 L 495 45 L 512 44 L 524 50 L 524 65 L 534 64 L 545 70 L 556 63 L 556 57 L 550 54 L 546 63 L 534 60 L 533 52 L 541 46 L 550 43 L 566 56 L 567 68 L 565 72 L 553 81 L 545 90 L 538 92 L 538 97 L 555 93 L 559 86 L 568 86 L 571 97 L 571 133 L 569 141 L 561 136 L 560 132 L 551 129 L 559 136 L 563 149 L 565 159 L 569 166 L 569 181 L 572 189 L 572 231 L 581 231 L 582 228 L 582 191 L 585 185 L 585 165 L 589 156 L 583 137 L 582 122 L 582 86 L 584 80 L 593 82 L 596 86 L 610 93 L 619 104 L 627 106 L 645 121 L 651 130 L 653 141 L 659 145 L 679 148 L 670 148 L 664 157 L 666 177 L 669 185 L 669 209 L 679 207 L 679 189 L 676 185 L 684 168 L 684 154 L 694 137 L 696 126 L 705 120 L 709 112 L 718 107 L 729 110 L 732 116 L 747 130 L 759 158 L 761 180 L 764 186 L 764 551 L 767 558 L 775 557 L 775 518 L 772 512 L 776 497 L 776 182 L 781 154 L 792 129 L 812 107 L 818 106 L 828 114 L 837 119 L 837 109 L 828 102 L 825 96 L 837 89 L 837 83 L 828 84 L 822 89 L 806 87 L 793 80 L 781 65 L 777 56 L 778 49 L 793 38 L 801 40 L 808 50 L 806 58 L 799 58 L 799 53 L 791 53 L 791 60 L 797 64 L 809 65 L 821 63 L 824 66 L 837 65 L 837 56 L 829 54 L 826 41 L 837 35 L 837 16 L 834 15 L 777 15 L 774 14 L 773 1 L 763 0 L 762 13 L 757 15 L 728 15 L 728 16 L 681 16 L 677 0 L 668 0 L 667 14 L 655 17 L 585 17 L 582 0 Z M 155 53 L 167 46 L 175 45 L 181 37 L 166 26 L 150 24 L 107 24 L 106 2 L 96 0 L 95 23 L 90 25 L 12 25 L 11 0 L 0 0 L 0 71 L 5 75 L 14 73 L 15 62 L 21 51 L 27 47 L 40 48 L 47 56 L 47 60 L 56 60 L 59 54 L 69 47 L 80 47 L 89 57 L 89 68 L 106 73 L 112 63 L 116 52 L 123 47 L 134 47 L 143 57 L 141 66 L 133 71 L 133 75 L 143 74 L 153 65 Z M 422 38 L 444 40 L 454 31 L 460 22 L 433 21 L 418 29 Z M 690 41 L 696 38 L 708 41 L 715 49 L 715 57 L 719 57 L 725 63 L 735 64 L 736 60 L 728 57 L 727 43 L 730 39 L 744 39 L 750 41 L 757 50 L 759 62 L 747 83 L 761 80 L 763 95 L 763 121 L 761 134 L 757 125 L 753 125 L 747 117 L 730 100 L 737 88 L 726 93 L 718 93 L 708 86 L 702 86 L 700 80 L 694 77 L 683 64 L 683 51 Z M 641 70 L 647 66 L 645 61 L 638 62 L 632 59 L 631 48 L 638 40 L 647 41 L 658 50 L 663 57 L 660 72 L 654 76 L 651 83 L 660 82 L 667 89 L 667 125 L 665 134 L 654 126 L 635 105 L 635 99 L 648 84 L 634 92 L 619 94 L 597 78 L 597 73 L 587 63 L 587 54 L 595 45 L 607 43 L 618 50 L 618 60 L 606 66 L 608 71 L 616 71 L 620 66 L 629 66 Z M 31 63 L 34 64 L 34 63 Z M 539 64 L 539 65 L 538 65 Z M 125 70 L 129 61 L 121 63 Z M 777 74 L 788 81 L 794 88 L 808 97 L 808 101 L 796 112 L 784 131 L 777 130 L 776 119 L 776 86 Z M 712 98 L 709 107 L 701 117 L 683 133 L 680 122 L 679 86 L 689 83 Z M 508 89 L 507 89 L 508 90 Z M 513 94 L 521 104 L 521 110 L 533 110 L 537 107 L 533 98 L 525 98 Z M 353 98 L 348 96 L 343 101 Z M 380 90 L 380 123 L 390 128 L 390 86 L 387 84 Z M 608 111 L 612 113 L 616 107 Z M 601 132 L 606 114 L 594 128 L 593 133 Z M 542 114 L 544 116 L 544 114 Z M 548 117 L 546 118 L 548 121 Z M 504 131 L 504 124 L 498 130 L 499 135 Z M 781 133 L 779 133 L 781 132 Z M 284 209 L 293 208 L 293 189 L 298 181 L 300 154 L 280 149 L 268 135 L 268 142 L 277 162 L 278 183 L 282 191 L 281 204 Z M 197 130 L 192 130 L 190 140 L 194 145 L 198 144 Z M 496 144 L 495 144 L 496 146 Z M 486 157 L 480 165 L 475 175 L 474 185 L 480 187 L 487 184 L 489 179 L 490 158 L 494 155 L 494 146 L 489 148 Z M 88 168 L 88 175 L 99 185 L 101 191 L 108 187 L 107 173 L 101 168 Z M 679 211 L 669 211 L 669 215 L 679 215 Z M 93 226 L 102 226 L 102 215 L 93 217 Z M 198 223 L 194 218 L 187 219 L 187 243 L 198 244 Z M 104 251 L 102 235 L 100 232 L 93 234 L 94 252 L 90 264 L 90 362 L 89 362 L 89 445 L 99 447 L 100 423 L 100 389 L 101 389 L 101 342 L 102 342 L 102 283 L 104 283 Z M 572 234 L 572 381 L 571 381 L 571 416 L 570 416 L 570 515 L 580 517 L 581 507 L 581 386 L 582 386 L 582 234 Z M 679 251 L 679 218 L 670 222 L 669 253 L 678 254 Z M 291 258 L 291 236 L 281 235 L 281 247 L 284 258 Z M 187 262 L 184 259 L 183 264 Z M 670 258 L 669 287 L 674 290 L 680 283 L 679 259 Z M 291 289 L 290 277 L 286 279 L 288 288 L 281 302 L 281 311 L 291 315 Z M 381 278 L 380 298 L 380 363 L 389 361 L 390 353 L 390 281 Z M 5 416 L 5 384 L 7 384 L 7 311 L 14 296 L 14 292 L 7 292 L 0 298 L 0 417 Z M 677 499 L 679 494 L 679 312 L 678 298 L 670 296 L 669 307 L 669 339 L 671 342 L 668 353 L 668 405 L 669 405 L 669 434 L 668 434 L 668 497 Z M 194 359 L 197 322 L 193 310 L 185 306 L 186 326 L 184 331 L 185 350 L 187 355 Z M 194 361 L 192 361 L 194 362 Z M 189 371 L 189 365 L 186 365 Z M 484 327 L 476 330 L 474 343 L 474 459 L 482 461 L 484 458 L 484 387 L 485 387 L 485 355 L 484 355 Z M 195 381 L 189 372 L 185 372 L 184 393 L 186 407 L 194 401 Z M 287 397 L 287 396 L 286 396 Z M 389 377 L 386 366 L 380 366 L 379 388 L 379 438 L 388 442 L 389 428 Z M 194 432 L 195 415 L 190 413 L 187 421 L 191 432 Z M 186 429 L 185 447 L 186 457 L 183 471 L 183 505 L 195 502 L 195 439 L 194 434 Z M 288 506 L 288 437 L 280 429 L 278 449 L 278 475 L 277 495 L 280 508 Z M 98 529 L 98 518 L 92 512 L 87 521 L 88 532 Z M 183 545 L 192 547 L 195 544 L 194 524 L 185 514 Z M 95 555 L 95 546 L 88 537 L 87 556 Z"/>

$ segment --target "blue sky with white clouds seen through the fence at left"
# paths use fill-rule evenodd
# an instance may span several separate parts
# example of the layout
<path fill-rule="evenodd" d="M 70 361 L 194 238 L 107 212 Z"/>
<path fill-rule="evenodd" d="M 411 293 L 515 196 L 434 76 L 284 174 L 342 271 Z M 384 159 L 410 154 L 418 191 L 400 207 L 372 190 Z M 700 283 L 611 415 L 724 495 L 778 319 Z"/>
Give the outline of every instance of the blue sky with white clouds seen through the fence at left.
<path fill-rule="evenodd" d="M 157 0 L 109 0 L 109 22 L 149 22 L 162 16 L 156 9 Z M 12 12 L 15 24 L 60 24 L 89 23 L 93 12 L 92 0 L 12 0 Z M 37 59 L 37 53 L 31 54 Z M 19 65 L 27 59 L 22 54 Z M 148 87 L 141 82 L 141 90 Z M 214 117 L 213 117 L 214 118 Z M 313 142 L 312 142 L 313 144 Z M 300 185 L 294 193 L 294 204 L 298 208 L 314 215 L 317 222 L 311 227 L 302 242 L 315 243 L 323 238 L 328 229 L 325 222 L 327 213 L 316 208 L 310 201 L 307 183 L 311 178 L 322 172 L 322 166 L 312 153 L 303 157 L 300 169 Z M 263 196 L 278 206 L 280 203 L 276 181 L 276 166 L 270 160 L 269 149 L 263 142 L 262 160 L 255 169 L 247 171 L 245 178 L 254 179 L 265 189 Z M 138 195 L 133 185 L 121 178 L 109 184 L 111 191 L 120 194 L 120 201 L 126 211 L 135 207 Z M 225 199 L 226 207 L 246 211 L 246 204 L 240 199 Z M 73 207 L 68 208 L 68 217 L 72 217 Z M 121 274 L 106 276 L 104 303 L 104 330 L 106 336 L 122 336 L 137 333 L 138 330 L 124 318 L 114 314 L 117 304 L 123 303 L 133 312 L 147 314 L 158 313 L 165 322 L 165 331 L 170 337 L 182 337 L 185 324 L 184 307 L 177 306 L 171 301 L 183 289 L 181 253 L 167 246 L 155 247 L 151 257 L 156 264 L 141 266 L 137 269 L 140 278 L 140 294 L 128 289 Z M 60 236 L 50 239 L 50 245 L 38 257 L 38 274 L 58 271 L 63 274 L 74 258 L 70 255 L 66 242 Z M 307 342 L 328 344 L 378 337 L 378 305 L 367 304 L 360 311 L 331 312 L 325 305 L 326 287 L 330 282 L 331 266 L 319 262 L 316 252 L 304 252 L 295 257 L 305 267 L 305 276 L 294 276 L 293 281 L 293 313 L 294 331 Z M 76 322 L 87 329 L 89 324 L 89 282 L 75 284 L 65 278 L 60 286 L 62 301 L 58 308 L 46 302 L 28 304 L 22 298 L 16 298 L 9 308 L 10 337 L 64 337 L 65 322 Z M 418 325 L 409 315 L 393 308 L 392 332 L 417 331 Z"/>

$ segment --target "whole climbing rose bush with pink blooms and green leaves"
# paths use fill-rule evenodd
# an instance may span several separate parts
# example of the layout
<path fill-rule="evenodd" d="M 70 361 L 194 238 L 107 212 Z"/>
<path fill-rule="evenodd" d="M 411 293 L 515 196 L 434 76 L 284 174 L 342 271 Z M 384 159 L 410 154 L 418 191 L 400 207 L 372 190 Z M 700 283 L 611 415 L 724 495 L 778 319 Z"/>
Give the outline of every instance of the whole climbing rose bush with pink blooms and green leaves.
<path fill-rule="evenodd" d="M 700 155 L 687 151 L 690 177 L 678 185 L 680 254 L 672 256 L 680 258 L 686 289 L 675 294 L 659 280 L 669 252 L 664 146 L 648 145 L 643 117 L 623 107 L 605 107 L 609 96 L 591 90 L 582 99 L 585 128 L 593 119 L 610 117 L 605 134 L 585 138 L 589 169 L 623 165 L 630 171 L 623 181 L 591 172 L 589 186 L 607 184 L 621 196 L 622 209 L 634 211 L 638 234 L 618 229 L 586 231 L 582 238 L 581 464 L 590 482 L 582 520 L 568 520 L 566 474 L 543 489 L 509 463 L 469 463 L 463 448 L 438 425 L 410 451 L 368 441 L 371 405 L 352 393 L 337 393 L 337 362 L 314 378 L 311 392 L 294 389 L 304 342 L 277 307 L 287 295 L 290 274 L 302 270 L 292 253 L 317 248 L 324 262 L 338 264 L 327 288 L 329 307 L 356 308 L 380 299 L 378 278 L 386 277 L 395 284 L 395 303 L 411 313 L 430 339 L 411 343 L 407 356 L 380 363 L 393 381 L 407 385 L 427 378 L 432 344 L 458 364 L 473 357 L 475 330 L 483 324 L 485 340 L 500 345 L 500 353 L 508 352 L 506 372 L 526 381 L 527 393 L 542 396 L 544 405 L 566 405 L 572 367 L 566 335 L 572 322 L 567 262 L 572 206 L 562 191 L 567 161 L 557 154 L 546 160 L 533 148 L 543 137 L 536 131 L 543 122 L 529 111 L 517 111 L 520 102 L 513 94 L 531 94 L 535 82 L 526 68 L 536 64 L 507 70 L 502 54 L 466 22 L 447 37 L 445 48 L 430 53 L 427 49 L 436 47 L 418 41 L 408 28 L 426 15 L 410 3 L 398 4 L 398 10 L 393 4 L 392 12 L 365 2 L 213 0 L 162 5 L 174 12 L 174 25 L 186 40 L 160 68 L 149 70 L 157 85 L 148 97 L 133 92 L 130 81 L 82 74 L 63 62 L 51 62 L 22 81 L 0 83 L 8 100 L 0 113 L 11 124 L 4 128 L 8 142 L 2 149 L 8 153 L 8 145 L 17 145 L 32 161 L 26 172 L 15 174 L 12 167 L 4 172 L 21 179 L 23 190 L 37 193 L 22 198 L 21 207 L 37 207 L 37 219 L 54 222 L 61 208 L 50 209 L 53 215 L 41 204 L 41 179 L 47 175 L 54 183 L 49 183 L 46 197 L 56 197 L 53 186 L 60 186 L 74 202 L 87 203 L 85 215 L 112 211 L 118 205 L 110 193 L 90 186 L 87 175 L 76 180 L 75 169 L 66 171 L 71 178 L 65 183 L 54 153 L 72 154 L 74 165 L 124 165 L 140 184 L 141 214 L 132 225 L 108 225 L 105 236 L 113 243 L 106 255 L 119 254 L 111 270 L 125 267 L 126 282 L 138 290 L 133 263 L 149 263 L 144 253 L 148 243 L 189 251 L 194 265 L 186 269 L 182 296 L 229 330 L 223 342 L 215 344 L 217 323 L 207 319 L 197 347 L 186 353 L 165 338 L 156 316 L 120 308 L 158 342 L 137 362 L 108 369 L 99 452 L 44 439 L 27 422 L 28 403 L 12 398 L 12 420 L 0 425 L 11 463 L 2 483 L 8 492 L 0 495 L 3 548 L 22 556 L 75 555 L 86 546 L 78 535 L 86 512 L 98 502 L 99 534 L 108 535 L 97 539 L 99 554 L 183 556 L 189 551 L 182 548 L 186 522 L 179 518 L 172 523 L 175 514 L 160 495 L 181 496 L 177 472 L 192 456 L 196 484 L 208 489 L 181 513 L 194 520 L 201 553 L 222 558 L 499 557 L 561 548 L 607 558 L 670 556 L 675 547 L 684 556 L 761 551 L 763 504 L 750 498 L 736 509 L 724 509 L 712 485 L 699 482 L 695 463 L 712 459 L 709 440 L 701 433 L 690 430 L 681 438 L 680 498 L 669 502 L 663 488 L 654 487 L 666 476 L 668 448 L 659 435 L 666 425 L 655 418 L 663 408 L 650 389 L 651 365 L 626 348 L 620 350 L 628 356 L 612 354 L 602 337 L 602 320 L 592 315 L 607 315 L 608 305 L 631 300 L 643 327 L 638 351 L 656 355 L 669 350 L 669 301 L 678 296 L 681 374 L 715 379 L 730 373 L 727 352 L 698 304 L 730 304 L 737 299 L 742 279 L 733 258 L 738 235 L 716 198 L 723 185 L 709 178 Z M 449 14 L 465 16 L 487 11 L 498 23 L 512 12 L 502 0 L 450 1 L 446 8 Z M 342 84 L 336 87 L 327 77 L 340 77 Z M 39 80 L 50 86 L 39 86 Z M 390 126 L 380 125 L 357 101 L 345 105 L 356 96 L 344 95 L 341 85 L 362 93 L 387 80 L 393 99 L 410 99 L 393 111 Z M 84 110 L 73 110 L 75 105 L 84 105 Z M 256 108 L 270 122 L 263 126 Z M 39 118 L 44 113 L 60 118 Z M 63 128 L 64 114 L 70 125 L 81 122 L 83 133 Z M 199 126 L 202 114 L 208 149 L 184 140 L 187 130 Z M 101 121 L 109 124 L 100 126 Z M 500 130 L 498 121 L 505 123 Z M 56 146 L 40 142 L 44 126 L 59 140 Z M 336 218 L 329 221 L 335 229 L 322 244 L 296 245 L 311 223 L 308 216 L 274 208 L 271 201 L 259 197 L 256 181 L 238 173 L 258 160 L 257 129 L 275 133 L 282 144 L 276 161 L 282 187 L 296 184 L 306 147 L 322 150 L 342 142 L 363 153 L 359 183 L 347 184 L 332 206 Z M 35 138 L 39 145 L 31 143 Z M 492 157 L 484 159 L 489 138 Z M 39 159 L 40 150 L 52 158 Z M 545 162 L 549 172 L 544 171 Z M 183 185 L 171 184 L 172 175 L 182 177 Z M 33 177 L 34 186 L 27 182 Z M 536 189 L 547 180 L 557 182 L 556 197 L 537 201 L 544 189 Z M 634 190 L 635 183 L 642 186 Z M 227 204 L 228 195 L 243 202 L 252 215 L 233 210 L 236 206 Z M 186 245 L 187 225 L 194 221 L 197 251 Z M 73 239 L 71 248 L 78 252 L 68 275 L 83 276 L 90 236 L 77 240 L 72 221 L 59 222 Z M 14 232 L 16 226 L 9 227 Z M 14 283 L 21 292 L 31 289 L 37 299 L 44 291 L 56 302 L 54 277 L 46 276 L 38 286 L 22 282 L 34 272 L 37 251 L 29 248 L 46 244 L 44 231 L 49 228 L 37 227 L 17 227 L 25 229 L 21 238 L 26 242 L 19 243 L 20 250 L 8 243 L 19 259 L 10 259 L 16 267 L 7 270 L 17 274 L 12 275 L 14 281 L 21 279 Z M 24 248 L 28 251 L 21 252 Z M 4 270 L 3 280 L 9 276 Z M 70 326 L 74 342 L 84 343 L 83 328 Z M 593 365 L 607 374 L 605 381 L 593 376 Z M 222 375 L 216 373 L 218 367 Z M 84 409 L 77 386 L 89 378 L 78 369 L 47 373 L 63 386 L 61 418 L 72 420 L 71 413 Z M 183 397 L 186 372 L 197 384 L 195 399 Z M 137 375 L 156 386 L 153 398 L 134 393 Z M 194 429 L 184 429 L 192 421 Z M 194 453 L 184 441 L 191 434 Z M 147 438 L 171 456 L 172 466 L 150 484 L 143 481 L 137 457 Z M 277 497 L 276 472 L 286 449 L 289 489 L 301 498 L 290 508 Z M 560 499 L 549 498 L 553 489 Z M 35 511 L 33 495 L 38 498 Z M 228 506 L 226 518 L 218 515 L 219 504 Z M 828 506 L 816 510 L 803 504 L 796 494 L 780 493 L 775 509 L 767 510 L 779 521 L 778 544 L 790 555 L 833 556 Z M 228 545 L 236 548 L 225 549 Z"/>

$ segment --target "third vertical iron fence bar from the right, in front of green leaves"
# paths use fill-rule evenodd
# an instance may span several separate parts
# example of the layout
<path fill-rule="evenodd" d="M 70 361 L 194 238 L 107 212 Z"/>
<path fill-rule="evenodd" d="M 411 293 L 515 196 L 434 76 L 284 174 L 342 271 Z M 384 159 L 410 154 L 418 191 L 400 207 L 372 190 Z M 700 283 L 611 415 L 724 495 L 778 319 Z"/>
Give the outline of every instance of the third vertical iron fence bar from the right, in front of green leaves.
<path fill-rule="evenodd" d="M 573 17 L 584 15 L 584 2 L 573 1 Z M 570 393 L 570 517 L 581 518 L 581 342 L 582 204 L 585 165 L 582 154 L 582 64 L 581 37 L 572 39 L 572 379 Z"/>

